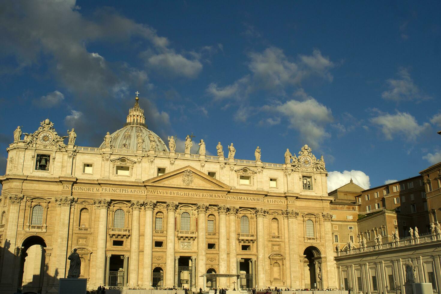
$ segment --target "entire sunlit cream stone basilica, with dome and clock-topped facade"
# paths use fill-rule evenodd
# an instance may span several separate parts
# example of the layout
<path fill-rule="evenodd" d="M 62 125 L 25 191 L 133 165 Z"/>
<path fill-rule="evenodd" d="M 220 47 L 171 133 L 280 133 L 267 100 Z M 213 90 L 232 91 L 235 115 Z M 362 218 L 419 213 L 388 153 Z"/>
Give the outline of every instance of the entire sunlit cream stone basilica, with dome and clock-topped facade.
<path fill-rule="evenodd" d="M 307 145 L 285 164 L 168 151 L 137 105 L 130 132 L 112 133 L 128 143 L 109 132 L 101 148 L 64 145 L 49 119 L 15 138 L 0 177 L 0 289 L 29 280 L 20 272 L 34 267 L 26 254 L 35 245 L 44 293 L 67 276 L 73 249 L 89 289 L 198 289 L 212 272 L 240 274 L 243 288 L 337 287 L 323 158 Z M 152 134 L 151 144 L 138 134 Z"/>

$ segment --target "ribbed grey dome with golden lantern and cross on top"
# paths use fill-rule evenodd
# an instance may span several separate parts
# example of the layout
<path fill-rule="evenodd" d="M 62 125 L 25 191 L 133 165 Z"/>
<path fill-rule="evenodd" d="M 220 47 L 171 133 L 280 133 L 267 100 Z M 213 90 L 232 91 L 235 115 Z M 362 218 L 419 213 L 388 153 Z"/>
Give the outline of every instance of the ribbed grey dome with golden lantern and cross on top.
<path fill-rule="evenodd" d="M 146 118 L 144 117 L 144 110 L 139 107 L 138 97 L 136 97 L 135 106 L 130 108 L 129 115 L 127 115 L 127 123 L 124 124 L 124 127 L 113 132 L 112 136 L 112 148 L 117 149 L 129 149 L 129 150 L 137 150 L 137 138 L 138 133 L 141 134 L 141 137 L 144 138 L 144 142 L 142 143 L 142 150 L 150 150 L 150 140 L 149 134 L 153 134 L 155 138 L 156 151 L 168 151 L 167 146 L 164 141 L 151 130 L 147 129 L 147 125 L 145 124 Z M 105 142 L 103 141 L 100 145 L 100 148 L 105 147 Z"/>

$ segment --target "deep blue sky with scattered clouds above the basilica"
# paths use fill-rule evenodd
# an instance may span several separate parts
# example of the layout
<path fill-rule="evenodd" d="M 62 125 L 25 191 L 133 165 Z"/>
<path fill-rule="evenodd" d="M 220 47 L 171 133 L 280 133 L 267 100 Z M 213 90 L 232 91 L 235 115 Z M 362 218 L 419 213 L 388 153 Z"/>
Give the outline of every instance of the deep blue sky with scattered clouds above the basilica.
<path fill-rule="evenodd" d="M 283 163 L 307 144 L 328 190 L 441 161 L 440 1 L 0 2 L 0 174 L 48 118 L 99 146 L 135 102 L 167 142 Z M 194 144 L 197 146 L 197 144 Z M 196 150 L 194 150 L 195 152 Z"/>

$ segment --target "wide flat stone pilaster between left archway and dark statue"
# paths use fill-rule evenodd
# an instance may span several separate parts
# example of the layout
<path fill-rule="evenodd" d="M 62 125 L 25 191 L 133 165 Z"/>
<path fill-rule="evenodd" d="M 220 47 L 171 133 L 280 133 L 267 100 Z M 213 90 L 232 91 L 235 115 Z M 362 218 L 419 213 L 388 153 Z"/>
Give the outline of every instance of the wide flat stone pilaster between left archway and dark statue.
<path fill-rule="evenodd" d="M 69 220 L 71 216 L 71 204 L 74 197 L 55 197 L 55 203 L 60 210 L 60 219 L 58 223 L 58 239 L 56 253 L 56 267 L 60 278 L 66 277 L 67 261 L 67 237 L 69 236 Z M 59 279 L 56 279 L 57 283 Z"/>

